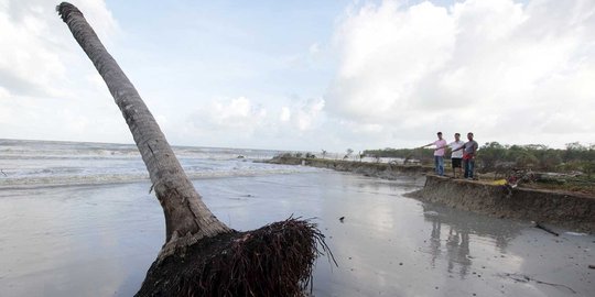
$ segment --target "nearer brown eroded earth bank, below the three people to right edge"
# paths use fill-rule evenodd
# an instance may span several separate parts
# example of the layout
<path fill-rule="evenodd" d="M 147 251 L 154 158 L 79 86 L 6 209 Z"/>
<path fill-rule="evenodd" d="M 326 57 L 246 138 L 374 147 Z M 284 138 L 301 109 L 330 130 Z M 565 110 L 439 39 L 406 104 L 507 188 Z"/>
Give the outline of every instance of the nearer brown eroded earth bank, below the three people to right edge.
<path fill-rule="evenodd" d="M 425 186 L 411 196 L 499 218 L 548 222 L 595 233 L 595 198 L 587 195 L 510 189 L 482 182 L 429 175 Z"/>

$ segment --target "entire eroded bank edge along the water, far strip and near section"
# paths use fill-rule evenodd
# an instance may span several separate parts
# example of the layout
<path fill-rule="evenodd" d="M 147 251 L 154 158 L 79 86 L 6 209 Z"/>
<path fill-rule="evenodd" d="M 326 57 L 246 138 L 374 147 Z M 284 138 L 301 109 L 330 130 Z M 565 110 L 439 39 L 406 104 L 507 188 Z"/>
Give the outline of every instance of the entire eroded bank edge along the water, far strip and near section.
<path fill-rule="evenodd" d="M 432 167 L 421 165 L 289 156 L 266 163 L 329 168 L 383 179 L 425 176 L 423 188 L 408 197 L 490 217 L 530 220 L 595 234 L 595 197 L 585 194 L 522 187 L 510 189 L 479 180 L 453 179 L 433 175 Z"/>

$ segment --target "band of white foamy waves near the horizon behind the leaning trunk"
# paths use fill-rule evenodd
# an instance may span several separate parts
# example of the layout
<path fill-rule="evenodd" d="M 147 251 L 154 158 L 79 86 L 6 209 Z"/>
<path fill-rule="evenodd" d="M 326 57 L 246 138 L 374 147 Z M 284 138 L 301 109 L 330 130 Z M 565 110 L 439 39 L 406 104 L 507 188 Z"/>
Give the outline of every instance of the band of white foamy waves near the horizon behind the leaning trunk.
<path fill-rule="evenodd" d="M 258 176 L 312 172 L 255 161 L 279 151 L 174 146 L 190 178 Z M 0 188 L 121 184 L 148 180 L 131 144 L 0 140 Z"/>

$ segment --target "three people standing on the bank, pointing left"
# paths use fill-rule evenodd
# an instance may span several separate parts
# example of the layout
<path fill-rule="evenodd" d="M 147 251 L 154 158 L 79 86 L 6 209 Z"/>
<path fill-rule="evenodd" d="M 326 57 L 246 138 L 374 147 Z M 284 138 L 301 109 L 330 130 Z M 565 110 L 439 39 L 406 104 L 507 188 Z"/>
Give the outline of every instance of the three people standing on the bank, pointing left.
<path fill-rule="evenodd" d="M 421 147 L 434 145 L 434 168 L 436 175 L 444 175 L 444 154 L 446 147 L 451 148 L 451 163 L 453 166 L 453 176 L 456 178 L 456 172 L 458 170 L 458 177 L 461 177 L 463 167 L 465 168 L 464 178 L 473 179 L 473 170 L 475 167 L 475 154 L 477 153 L 477 142 L 473 140 L 473 133 L 467 133 L 467 142 L 461 141 L 461 134 L 454 134 L 455 140 L 451 143 L 446 143 L 446 140 L 442 138 L 442 132 L 437 132 L 437 140 L 423 145 Z M 420 148 L 421 148 L 420 147 Z M 458 169 L 457 169 L 458 168 Z"/>

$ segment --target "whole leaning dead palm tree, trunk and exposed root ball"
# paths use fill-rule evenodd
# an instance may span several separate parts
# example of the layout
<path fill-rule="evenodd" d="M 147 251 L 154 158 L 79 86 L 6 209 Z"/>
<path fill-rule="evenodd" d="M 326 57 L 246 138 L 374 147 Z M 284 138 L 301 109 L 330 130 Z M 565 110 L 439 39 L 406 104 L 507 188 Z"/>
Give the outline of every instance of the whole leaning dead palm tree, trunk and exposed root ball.
<path fill-rule="evenodd" d="M 134 86 L 73 4 L 62 20 L 120 108 L 165 217 L 165 244 L 137 296 L 300 296 L 317 256 L 328 252 L 316 226 L 290 218 L 238 232 L 219 221 L 182 169 Z M 332 254 L 329 255 L 332 258 Z"/>

